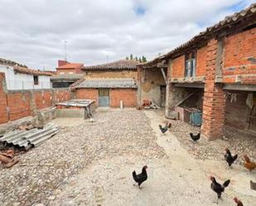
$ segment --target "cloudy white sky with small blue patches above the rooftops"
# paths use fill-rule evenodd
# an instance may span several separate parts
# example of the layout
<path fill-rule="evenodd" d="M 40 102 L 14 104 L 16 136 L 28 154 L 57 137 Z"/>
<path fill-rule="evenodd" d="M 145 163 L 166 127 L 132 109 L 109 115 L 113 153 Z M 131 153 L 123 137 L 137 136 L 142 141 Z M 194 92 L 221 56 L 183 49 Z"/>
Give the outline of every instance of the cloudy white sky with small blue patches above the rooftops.
<path fill-rule="evenodd" d="M 159 53 L 188 41 L 249 0 L 0 0 L 0 57 L 36 69 Z"/>

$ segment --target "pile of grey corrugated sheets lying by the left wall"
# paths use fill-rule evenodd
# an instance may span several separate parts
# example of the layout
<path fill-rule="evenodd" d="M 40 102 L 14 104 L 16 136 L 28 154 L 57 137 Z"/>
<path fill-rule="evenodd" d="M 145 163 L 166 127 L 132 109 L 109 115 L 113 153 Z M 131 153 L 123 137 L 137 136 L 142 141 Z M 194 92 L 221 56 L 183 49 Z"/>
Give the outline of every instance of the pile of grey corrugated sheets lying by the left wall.
<path fill-rule="evenodd" d="M 34 128 L 29 131 L 16 130 L 8 132 L 0 138 L 0 141 L 25 148 L 30 145 L 39 146 L 43 141 L 51 138 L 57 132 L 59 132 L 59 128 L 53 123 L 48 123 L 43 129 Z"/>

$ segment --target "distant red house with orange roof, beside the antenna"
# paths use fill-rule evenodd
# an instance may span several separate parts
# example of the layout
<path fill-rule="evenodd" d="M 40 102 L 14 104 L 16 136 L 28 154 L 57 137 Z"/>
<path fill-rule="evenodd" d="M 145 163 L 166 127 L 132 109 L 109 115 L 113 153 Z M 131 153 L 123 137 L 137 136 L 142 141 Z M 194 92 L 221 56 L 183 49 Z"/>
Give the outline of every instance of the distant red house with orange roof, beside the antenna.
<path fill-rule="evenodd" d="M 66 60 L 58 60 L 58 67 L 56 67 L 57 74 L 79 74 L 84 66 L 82 63 L 70 63 Z"/>

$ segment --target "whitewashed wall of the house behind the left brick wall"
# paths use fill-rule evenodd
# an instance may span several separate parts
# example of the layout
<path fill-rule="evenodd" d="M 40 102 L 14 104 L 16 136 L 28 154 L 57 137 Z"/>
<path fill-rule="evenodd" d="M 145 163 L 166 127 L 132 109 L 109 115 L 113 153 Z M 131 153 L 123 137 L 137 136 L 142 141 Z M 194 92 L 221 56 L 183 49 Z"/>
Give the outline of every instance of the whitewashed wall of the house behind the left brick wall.
<path fill-rule="evenodd" d="M 33 75 L 21 73 L 15 74 L 12 66 L 0 65 L 0 72 L 5 74 L 8 90 L 51 88 L 50 76 L 39 75 L 38 85 L 35 85 Z"/>

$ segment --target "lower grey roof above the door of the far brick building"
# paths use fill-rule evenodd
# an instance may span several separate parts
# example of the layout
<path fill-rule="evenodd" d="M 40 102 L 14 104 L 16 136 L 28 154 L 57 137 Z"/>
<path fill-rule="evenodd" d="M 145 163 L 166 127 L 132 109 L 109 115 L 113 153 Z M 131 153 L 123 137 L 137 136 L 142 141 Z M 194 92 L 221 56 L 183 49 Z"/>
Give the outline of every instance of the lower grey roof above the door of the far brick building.
<path fill-rule="evenodd" d="M 134 79 L 85 79 L 75 85 L 75 89 L 84 88 L 137 88 Z"/>

